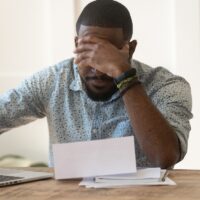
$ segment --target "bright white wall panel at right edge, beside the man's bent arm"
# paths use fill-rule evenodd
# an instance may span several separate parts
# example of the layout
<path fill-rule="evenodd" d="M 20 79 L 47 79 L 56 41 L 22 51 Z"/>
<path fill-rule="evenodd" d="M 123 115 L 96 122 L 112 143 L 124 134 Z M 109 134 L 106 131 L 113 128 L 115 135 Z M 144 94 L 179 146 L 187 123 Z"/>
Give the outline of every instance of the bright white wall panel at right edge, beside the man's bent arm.
<path fill-rule="evenodd" d="M 175 11 L 175 71 L 191 84 L 194 114 L 188 154 L 177 167 L 200 169 L 200 1 L 176 0 Z"/>

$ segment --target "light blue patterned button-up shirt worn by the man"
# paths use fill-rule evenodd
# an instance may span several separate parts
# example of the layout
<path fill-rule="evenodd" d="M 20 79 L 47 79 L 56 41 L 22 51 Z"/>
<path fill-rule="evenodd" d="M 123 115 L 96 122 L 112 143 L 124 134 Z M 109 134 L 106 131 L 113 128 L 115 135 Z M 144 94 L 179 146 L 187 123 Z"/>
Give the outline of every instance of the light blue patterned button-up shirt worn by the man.
<path fill-rule="evenodd" d="M 192 117 L 189 84 L 162 67 L 151 68 L 136 60 L 132 66 L 154 105 L 176 131 L 183 158 Z M 43 117 L 49 126 L 50 166 L 54 143 L 134 135 L 119 93 L 106 102 L 89 99 L 73 59 L 32 75 L 0 96 L 0 133 Z M 152 166 L 137 140 L 135 148 L 137 166 Z"/>

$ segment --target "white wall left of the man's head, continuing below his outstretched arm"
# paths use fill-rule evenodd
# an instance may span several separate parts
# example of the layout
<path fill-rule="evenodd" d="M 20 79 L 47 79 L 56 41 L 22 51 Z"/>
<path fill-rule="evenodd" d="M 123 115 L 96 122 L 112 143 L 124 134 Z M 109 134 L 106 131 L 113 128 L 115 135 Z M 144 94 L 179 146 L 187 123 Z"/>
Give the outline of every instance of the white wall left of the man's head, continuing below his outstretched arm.
<path fill-rule="evenodd" d="M 0 0 L 0 93 L 29 74 L 71 57 L 73 0 Z M 0 156 L 48 160 L 46 119 L 0 137 Z"/>

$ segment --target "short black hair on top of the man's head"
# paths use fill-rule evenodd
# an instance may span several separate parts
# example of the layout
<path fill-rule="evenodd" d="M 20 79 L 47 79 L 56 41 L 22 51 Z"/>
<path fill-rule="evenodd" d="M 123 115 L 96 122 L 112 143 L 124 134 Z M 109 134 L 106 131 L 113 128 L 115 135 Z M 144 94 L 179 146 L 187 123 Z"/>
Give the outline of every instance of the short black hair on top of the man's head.
<path fill-rule="evenodd" d="M 125 40 L 130 40 L 133 34 L 133 23 L 128 9 L 113 0 L 96 0 L 89 3 L 76 22 L 77 34 L 81 25 L 122 28 Z"/>

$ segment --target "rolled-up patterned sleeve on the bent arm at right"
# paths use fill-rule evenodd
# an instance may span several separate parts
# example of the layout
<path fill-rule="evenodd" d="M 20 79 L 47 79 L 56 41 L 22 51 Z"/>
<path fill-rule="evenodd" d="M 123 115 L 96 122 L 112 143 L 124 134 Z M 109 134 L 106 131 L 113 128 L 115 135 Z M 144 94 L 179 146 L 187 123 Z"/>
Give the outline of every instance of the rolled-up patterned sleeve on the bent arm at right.
<path fill-rule="evenodd" d="M 182 160 L 187 153 L 190 119 L 193 117 L 190 85 L 184 78 L 173 76 L 163 79 L 155 88 L 152 91 L 153 102 L 175 130 Z"/>

